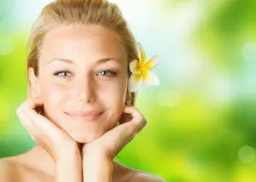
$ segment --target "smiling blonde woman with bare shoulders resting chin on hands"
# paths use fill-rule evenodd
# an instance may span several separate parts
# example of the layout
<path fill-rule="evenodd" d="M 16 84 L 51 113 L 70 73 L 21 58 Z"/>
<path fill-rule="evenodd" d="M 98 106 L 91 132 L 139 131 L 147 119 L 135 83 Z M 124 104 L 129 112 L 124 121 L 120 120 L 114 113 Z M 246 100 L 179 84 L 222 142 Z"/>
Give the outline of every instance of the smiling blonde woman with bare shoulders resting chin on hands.
<path fill-rule="evenodd" d="M 115 4 L 49 3 L 27 60 L 28 99 L 16 113 L 37 145 L 2 159 L 1 181 L 163 181 L 113 160 L 147 123 L 134 106 L 145 75 L 133 74 L 136 42 Z"/>

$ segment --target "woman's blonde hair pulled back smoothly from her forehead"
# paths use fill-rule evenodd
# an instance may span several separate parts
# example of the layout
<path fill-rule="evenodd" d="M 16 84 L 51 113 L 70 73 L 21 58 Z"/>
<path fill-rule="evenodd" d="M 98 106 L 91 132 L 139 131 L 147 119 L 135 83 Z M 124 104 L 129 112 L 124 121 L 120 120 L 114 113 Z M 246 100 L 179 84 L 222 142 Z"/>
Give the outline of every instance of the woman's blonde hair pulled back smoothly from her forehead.
<path fill-rule="evenodd" d="M 44 36 L 51 28 L 60 24 L 102 25 L 118 33 L 126 49 L 128 76 L 131 77 L 129 63 L 131 60 L 138 60 L 137 43 L 119 7 L 107 0 L 56 0 L 45 6 L 32 26 L 27 70 L 32 67 L 38 77 L 39 51 Z M 127 94 L 131 94 L 130 105 L 135 105 L 137 93 Z"/>

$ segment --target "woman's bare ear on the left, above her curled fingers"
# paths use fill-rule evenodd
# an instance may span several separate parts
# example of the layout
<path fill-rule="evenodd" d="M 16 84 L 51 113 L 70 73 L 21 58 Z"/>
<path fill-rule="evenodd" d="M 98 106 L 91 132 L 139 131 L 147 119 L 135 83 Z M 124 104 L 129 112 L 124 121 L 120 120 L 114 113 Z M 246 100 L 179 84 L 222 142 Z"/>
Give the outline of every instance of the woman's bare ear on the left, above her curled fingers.
<path fill-rule="evenodd" d="M 29 98 L 35 98 L 40 99 L 41 98 L 41 92 L 40 92 L 40 85 L 38 82 L 38 77 L 35 76 L 35 71 L 32 67 L 28 69 L 28 97 Z"/>

